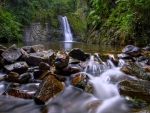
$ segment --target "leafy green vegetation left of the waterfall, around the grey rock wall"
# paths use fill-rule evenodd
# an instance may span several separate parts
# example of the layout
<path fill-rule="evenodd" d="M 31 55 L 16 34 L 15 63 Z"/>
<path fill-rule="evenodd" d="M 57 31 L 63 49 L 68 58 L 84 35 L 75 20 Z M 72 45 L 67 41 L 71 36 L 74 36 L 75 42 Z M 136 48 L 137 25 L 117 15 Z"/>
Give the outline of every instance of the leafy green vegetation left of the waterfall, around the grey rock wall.
<path fill-rule="evenodd" d="M 47 22 L 57 28 L 58 15 L 75 11 L 74 0 L 2 0 L 0 6 L 0 38 L 7 37 L 8 41 L 19 40 L 20 30 L 31 22 Z"/>

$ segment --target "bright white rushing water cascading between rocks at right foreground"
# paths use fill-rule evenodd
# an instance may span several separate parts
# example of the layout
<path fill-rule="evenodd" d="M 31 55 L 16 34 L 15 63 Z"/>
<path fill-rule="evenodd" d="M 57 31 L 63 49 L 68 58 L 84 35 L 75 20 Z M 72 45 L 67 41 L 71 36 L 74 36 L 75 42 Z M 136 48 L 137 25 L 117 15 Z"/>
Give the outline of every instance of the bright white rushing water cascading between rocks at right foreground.
<path fill-rule="evenodd" d="M 91 61 L 93 58 L 91 58 Z M 90 62 L 89 62 L 90 63 Z M 98 76 L 93 76 L 91 73 L 88 74 L 90 80 L 89 82 L 93 86 L 93 94 L 96 98 L 103 101 L 101 105 L 96 110 L 96 113 L 128 113 L 128 108 L 124 102 L 124 99 L 120 96 L 116 84 L 111 84 L 111 80 L 118 82 L 118 77 L 125 76 L 118 67 L 109 60 L 109 65 L 107 71 L 99 74 Z M 106 66 L 106 65 L 105 65 Z M 111 69 L 109 69 L 111 68 Z M 99 69 L 99 65 L 91 64 L 91 68 L 95 71 Z M 88 69 L 85 70 L 88 72 Z M 122 79 L 120 79 L 121 81 Z"/>

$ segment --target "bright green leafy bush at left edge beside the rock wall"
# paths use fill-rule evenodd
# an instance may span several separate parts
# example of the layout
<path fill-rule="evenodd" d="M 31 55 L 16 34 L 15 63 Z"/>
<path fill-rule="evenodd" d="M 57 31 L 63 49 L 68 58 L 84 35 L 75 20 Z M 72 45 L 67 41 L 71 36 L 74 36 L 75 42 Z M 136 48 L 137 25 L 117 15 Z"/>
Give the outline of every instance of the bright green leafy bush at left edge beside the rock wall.
<path fill-rule="evenodd" d="M 15 22 L 15 17 L 4 12 L 0 7 L 0 41 L 20 40 L 20 24 Z"/>

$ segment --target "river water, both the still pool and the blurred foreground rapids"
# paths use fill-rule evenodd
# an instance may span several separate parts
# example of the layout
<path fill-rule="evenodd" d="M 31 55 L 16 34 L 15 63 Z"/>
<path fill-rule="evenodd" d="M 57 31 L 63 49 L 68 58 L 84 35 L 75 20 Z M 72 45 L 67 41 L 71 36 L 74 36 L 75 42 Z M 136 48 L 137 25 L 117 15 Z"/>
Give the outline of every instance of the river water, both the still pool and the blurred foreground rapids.
<path fill-rule="evenodd" d="M 10 47 L 14 43 L 2 44 Z M 30 42 L 15 43 L 18 47 L 43 44 L 45 49 L 54 51 L 67 51 L 73 48 L 80 48 L 88 53 L 120 53 L 123 47 L 111 45 L 85 44 L 82 42 Z M 89 61 L 91 69 L 99 69 L 99 65 L 92 64 L 93 59 Z M 110 64 L 111 65 L 111 64 Z M 94 66 L 94 68 L 93 68 Z M 106 67 L 107 68 L 107 67 Z M 93 71 L 93 70 L 92 70 Z M 103 71 L 103 70 L 102 70 Z M 101 72 L 100 72 L 101 73 Z M 0 75 L 4 75 L 1 73 Z M 123 98 L 119 95 L 116 84 L 109 84 L 109 79 L 122 75 L 119 67 L 109 67 L 99 76 L 93 77 L 89 73 L 90 83 L 93 84 L 94 93 L 85 93 L 71 85 L 66 86 L 64 91 L 57 97 L 50 99 L 45 105 L 36 105 L 34 100 L 24 100 L 11 97 L 8 95 L 0 96 L 0 113 L 130 113 L 124 103 Z M 105 82 L 104 82 L 105 81 Z M 0 82 L 0 93 L 8 90 L 11 83 Z M 23 84 L 18 89 L 27 93 L 34 93 L 39 83 Z M 89 102 L 103 101 L 96 111 L 89 110 L 86 107 Z"/>

